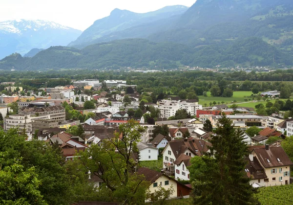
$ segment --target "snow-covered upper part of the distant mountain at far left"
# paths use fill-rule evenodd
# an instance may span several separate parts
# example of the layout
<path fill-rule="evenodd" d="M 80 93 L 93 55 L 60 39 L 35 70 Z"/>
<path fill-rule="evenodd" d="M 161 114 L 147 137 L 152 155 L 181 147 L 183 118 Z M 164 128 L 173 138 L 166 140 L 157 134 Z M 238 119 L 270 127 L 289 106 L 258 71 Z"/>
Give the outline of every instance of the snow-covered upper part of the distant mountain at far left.
<path fill-rule="evenodd" d="M 26 21 L 26 20 L 14 20 L 14 21 L 5 21 L 0 22 L 0 31 L 4 33 L 16 33 L 23 34 L 28 31 L 38 31 L 38 30 L 46 30 L 46 29 L 61 29 L 61 30 L 69 30 L 70 27 L 63 26 L 59 23 L 35 20 L 35 21 Z"/>

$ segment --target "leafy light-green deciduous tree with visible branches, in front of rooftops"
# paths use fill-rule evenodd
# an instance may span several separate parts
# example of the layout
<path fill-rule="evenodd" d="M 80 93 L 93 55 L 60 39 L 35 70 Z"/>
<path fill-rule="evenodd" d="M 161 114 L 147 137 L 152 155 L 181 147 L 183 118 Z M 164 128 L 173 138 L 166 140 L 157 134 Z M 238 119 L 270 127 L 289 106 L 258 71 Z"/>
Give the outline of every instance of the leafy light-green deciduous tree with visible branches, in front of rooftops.
<path fill-rule="evenodd" d="M 105 139 L 103 145 L 91 145 L 80 154 L 82 164 L 104 182 L 97 195 L 109 202 L 142 204 L 149 183 L 144 176 L 133 174 L 135 162 L 132 153 L 146 129 L 135 120 L 119 126 L 114 139 Z"/>

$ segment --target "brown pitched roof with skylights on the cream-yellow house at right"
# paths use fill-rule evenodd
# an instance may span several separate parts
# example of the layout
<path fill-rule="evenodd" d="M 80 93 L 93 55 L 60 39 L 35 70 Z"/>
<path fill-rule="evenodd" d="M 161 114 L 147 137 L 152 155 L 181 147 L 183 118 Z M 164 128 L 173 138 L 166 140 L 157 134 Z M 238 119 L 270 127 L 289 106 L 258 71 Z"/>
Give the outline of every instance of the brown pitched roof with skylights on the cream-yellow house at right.
<path fill-rule="evenodd" d="M 268 150 L 266 148 L 256 148 L 253 151 L 266 168 L 293 165 L 282 147 L 269 147 Z"/>

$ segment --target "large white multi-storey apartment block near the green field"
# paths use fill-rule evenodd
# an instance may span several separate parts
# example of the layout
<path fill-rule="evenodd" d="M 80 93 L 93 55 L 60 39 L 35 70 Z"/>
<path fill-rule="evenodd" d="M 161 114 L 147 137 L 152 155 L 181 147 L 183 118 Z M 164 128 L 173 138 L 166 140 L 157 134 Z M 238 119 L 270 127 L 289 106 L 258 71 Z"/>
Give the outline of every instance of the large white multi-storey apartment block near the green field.
<path fill-rule="evenodd" d="M 191 116 L 196 115 L 196 110 L 202 109 L 202 105 L 199 105 L 195 100 L 161 100 L 159 102 L 159 109 L 161 111 L 161 117 L 169 118 L 175 116 L 176 111 L 184 109 Z"/>

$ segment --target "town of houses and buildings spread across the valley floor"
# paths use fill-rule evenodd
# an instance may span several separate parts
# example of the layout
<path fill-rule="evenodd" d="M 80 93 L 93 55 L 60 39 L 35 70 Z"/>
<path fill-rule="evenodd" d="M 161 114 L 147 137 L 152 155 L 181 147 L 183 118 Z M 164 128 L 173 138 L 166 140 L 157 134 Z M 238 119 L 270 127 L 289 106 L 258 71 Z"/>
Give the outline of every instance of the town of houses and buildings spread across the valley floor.
<path fill-rule="evenodd" d="M 203 107 L 198 99 L 160 98 L 151 92 L 138 93 L 136 85 L 126 85 L 123 80 L 85 79 L 38 92 L 15 87 L 14 82 L 1 84 L 11 94 L 0 96 L 2 128 L 18 128 L 27 140 L 59 144 L 65 161 L 73 160 L 93 144 L 102 146 L 105 140 L 114 139 L 119 126 L 129 120 L 138 122 L 145 131 L 137 144 L 140 155 L 133 153 L 132 158 L 146 166 L 136 171 L 145 174 L 151 191 L 159 186 L 172 187 L 170 198 L 189 197 L 190 161 L 209 153 L 209 141 L 216 135 L 214 130 L 223 115 L 244 131 L 243 141 L 250 151 L 244 171 L 251 185 L 291 183 L 293 162 L 281 143 L 293 135 L 293 119 L 284 119 L 281 114 L 262 116 L 252 108 L 229 108 L 226 104 Z M 93 94 L 95 91 L 100 92 Z M 275 96 L 280 92 L 261 95 Z M 83 133 L 77 135 L 78 129 Z M 156 162 L 156 167 L 147 166 L 147 161 Z M 89 180 L 97 187 L 104 183 L 97 176 L 89 175 Z"/>

